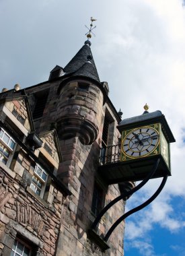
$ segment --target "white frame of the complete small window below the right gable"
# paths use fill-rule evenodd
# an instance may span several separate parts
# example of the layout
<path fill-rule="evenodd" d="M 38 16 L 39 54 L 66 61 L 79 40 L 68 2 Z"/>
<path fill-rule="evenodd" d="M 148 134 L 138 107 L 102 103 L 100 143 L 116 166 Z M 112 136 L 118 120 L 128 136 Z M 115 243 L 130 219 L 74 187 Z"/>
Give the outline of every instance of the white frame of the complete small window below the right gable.
<path fill-rule="evenodd" d="M 36 172 L 36 170 L 38 168 L 40 168 L 42 170 L 42 173 L 44 172 L 46 174 L 45 181 L 44 181 L 44 179 L 42 179 L 42 177 L 40 177 L 38 172 Z M 38 181 L 40 181 L 42 183 L 42 188 L 41 189 L 37 186 L 36 183 L 33 183 L 34 177 L 36 177 L 36 179 L 38 179 Z M 32 189 L 32 191 L 34 191 L 34 193 L 36 193 L 37 189 L 40 189 L 40 195 L 38 195 L 38 193 L 36 193 L 36 195 L 38 195 L 38 197 L 40 197 L 41 199 L 43 199 L 43 197 L 44 197 L 44 192 L 45 192 L 45 189 L 46 189 L 47 181 L 48 181 L 48 173 L 39 164 L 36 164 L 35 169 L 34 169 L 34 174 L 32 176 L 32 181 L 31 181 L 31 184 L 30 184 L 30 189 Z M 35 189 L 32 188 L 32 185 L 35 186 Z"/>

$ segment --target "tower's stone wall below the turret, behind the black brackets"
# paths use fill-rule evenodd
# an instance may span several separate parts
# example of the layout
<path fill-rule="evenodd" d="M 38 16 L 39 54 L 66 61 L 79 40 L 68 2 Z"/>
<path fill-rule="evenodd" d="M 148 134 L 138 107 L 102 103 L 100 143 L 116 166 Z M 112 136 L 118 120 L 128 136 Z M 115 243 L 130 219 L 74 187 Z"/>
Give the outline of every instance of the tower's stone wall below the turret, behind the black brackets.
<path fill-rule="evenodd" d="M 75 255 L 123 255 L 122 236 L 124 223 L 119 232 L 110 236 L 110 250 L 103 252 L 88 238 L 88 229 L 95 220 L 91 212 L 91 202 L 98 168 L 100 146 L 83 145 L 77 137 L 61 141 L 64 162 L 60 164 L 58 177 L 66 183 L 72 195 L 67 197 L 63 207 L 62 225 L 59 236 L 57 256 Z M 104 183 L 104 181 L 102 181 Z M 105 185 L 106 186 L 106 185 Z M 105 205 L 120 195 L 118 185 L 106 187 Z M 98 234 L 105 235 L 110 226 L 124 212 L 124 202 L 120 201 L 104 215 L 98 225 Z M 67 245 L 71 244 L 71 247 Z M 76 254 L 78 252 L 78 254 Z"/>

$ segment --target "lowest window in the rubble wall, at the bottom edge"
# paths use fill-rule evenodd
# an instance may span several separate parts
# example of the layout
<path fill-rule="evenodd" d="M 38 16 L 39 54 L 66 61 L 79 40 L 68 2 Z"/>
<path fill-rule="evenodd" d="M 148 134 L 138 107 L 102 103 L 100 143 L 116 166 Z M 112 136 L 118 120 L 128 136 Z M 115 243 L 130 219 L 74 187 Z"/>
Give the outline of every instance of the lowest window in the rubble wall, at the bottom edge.
<path fill-rule="evenodd" d="M 15 239 L 10 256 L 30 256 L 31 248 L 26 243 Z"/>

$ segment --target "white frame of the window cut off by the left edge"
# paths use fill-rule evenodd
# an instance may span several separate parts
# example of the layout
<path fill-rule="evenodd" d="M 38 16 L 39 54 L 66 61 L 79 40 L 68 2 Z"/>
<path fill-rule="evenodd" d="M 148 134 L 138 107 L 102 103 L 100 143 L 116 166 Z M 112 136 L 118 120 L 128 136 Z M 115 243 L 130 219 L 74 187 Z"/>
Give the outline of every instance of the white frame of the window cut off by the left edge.
<path fill-rule="evenodd" d="M 2 156 L 0 156 L 0 161 L 3 163 L 3 164 L 5 164 L 5 166 L 7 166 L 8 168 L 9 168 L 9 166 L 10 166 L 10 164 L 11 164 L 11 160 L 12 160 L 12 158 L 13 158 L 13 153 L 15 152 L 15 148 L 16 148 L 16 146 L 17 146 L 17 143 L 16 143 L 16 141 L 15 141 L 15 139 L 13 139 L 13 137 L 11 137 L 11 135 L 9 135 L 9 133 L 7 133 L 7 131 L 5 131 L 5 129 L 3 129 L 2 127 L 0 127 L 0 136 L 1 136 L 1 131 L 3 131 L 3 135 L 2 135 L 2 137 L 0 137 L 0 143 L 9 151 L 9 156 L 7 157 L 7 156 L 5 156 L 5 158 L 7 158 L 7 162 L 6 163 L 4 163 L 2 160 L 1 160 L 1 158 L 4 156 L 4 154 L 2 154 L 1 153 L 1 151 L 0 151 L 0 154 L 2 154 Z M 6 141 L 4 141 L 3 140 L 3 136 L 4 135 L 7 135 L 7 137 L 9 137 L 9 141 L 11 140 L 11 141 L 13 141 L 13 143 L 14 143 L 14 146 L 13 146 L 13 148 L 11 148 L 9 145 L 8 145 L 8 143 L 6 142 Z"/>

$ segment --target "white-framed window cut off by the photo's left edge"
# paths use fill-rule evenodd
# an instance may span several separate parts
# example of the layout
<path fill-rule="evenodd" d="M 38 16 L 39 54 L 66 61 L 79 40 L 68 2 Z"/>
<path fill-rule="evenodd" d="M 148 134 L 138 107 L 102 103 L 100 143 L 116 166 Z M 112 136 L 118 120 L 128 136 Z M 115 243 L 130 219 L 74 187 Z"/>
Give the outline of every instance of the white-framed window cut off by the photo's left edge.
<path fill-rule="evenodd" d="M 1 128 L 0 130 L 0 161 L 8 165 L 15 150 L 15 141 L 9 134 Z"/>

